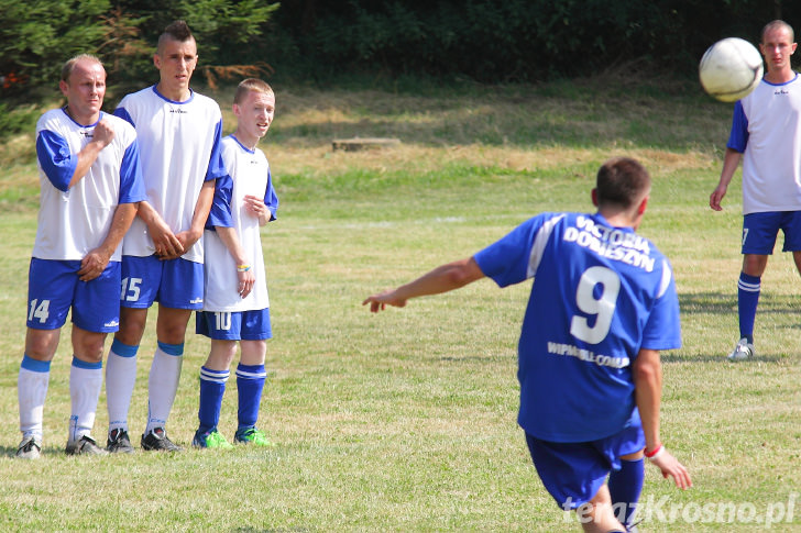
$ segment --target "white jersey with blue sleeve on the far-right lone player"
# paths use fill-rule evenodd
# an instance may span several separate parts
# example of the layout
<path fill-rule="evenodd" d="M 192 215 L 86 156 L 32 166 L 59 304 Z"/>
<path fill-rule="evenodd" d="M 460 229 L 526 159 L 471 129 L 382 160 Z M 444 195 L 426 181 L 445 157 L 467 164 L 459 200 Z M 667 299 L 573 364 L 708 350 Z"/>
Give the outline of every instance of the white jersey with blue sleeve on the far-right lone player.
<path fill-rule="evenodd" d="M 801 79 L 762 80 L 737 102 L 728 147 L 744 153 L 743 213 L 801 210 Z"/>

